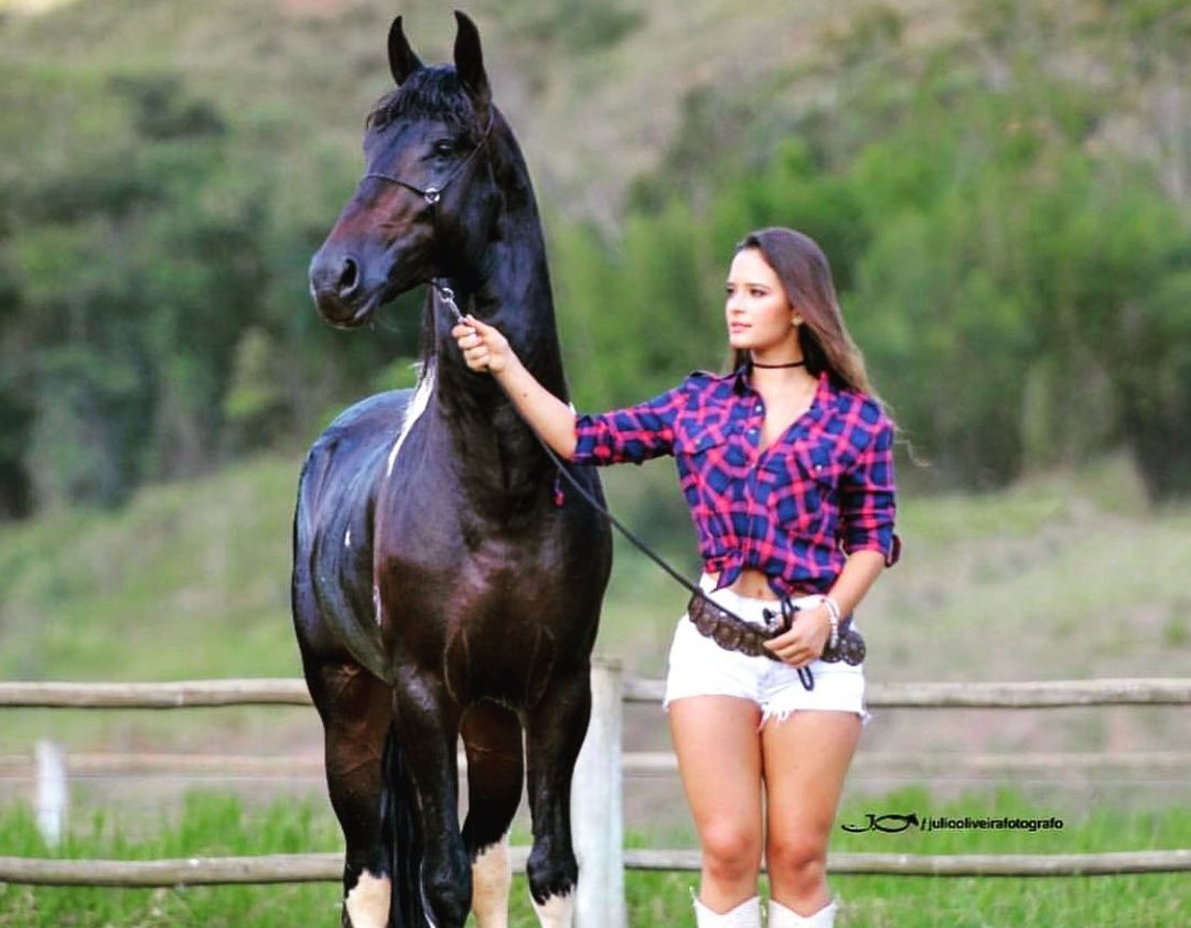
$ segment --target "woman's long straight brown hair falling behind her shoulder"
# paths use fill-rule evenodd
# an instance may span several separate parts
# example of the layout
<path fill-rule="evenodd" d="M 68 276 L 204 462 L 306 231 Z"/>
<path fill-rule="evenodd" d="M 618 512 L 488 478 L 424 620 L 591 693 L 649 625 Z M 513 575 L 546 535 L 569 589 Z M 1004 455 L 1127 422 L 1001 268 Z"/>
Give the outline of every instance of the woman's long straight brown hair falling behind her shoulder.
<path fill-rule="evenodd" d="M 803 324 L 798 344 L 806 358 L 806 370 L 815 376 L 827 371 L 836 387 L 850 388 L 875 397 L 865 358 L 843 324 L 843 313 L 831 282 L 831 267 L 823 249 L 810 236 L 792 228 L 762 228 L 750 232 L 736 252 L 755 249 L 778 275 L 791 308 Z M 748 363 L 747 351 L 731 352 L 732 370 Z"/>

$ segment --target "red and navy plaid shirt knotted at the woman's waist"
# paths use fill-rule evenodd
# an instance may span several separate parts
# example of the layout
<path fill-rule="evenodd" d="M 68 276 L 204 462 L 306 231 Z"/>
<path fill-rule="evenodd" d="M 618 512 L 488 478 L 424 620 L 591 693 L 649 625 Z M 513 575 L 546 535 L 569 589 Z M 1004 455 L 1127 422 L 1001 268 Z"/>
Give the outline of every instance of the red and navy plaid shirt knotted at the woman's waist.
<path fill-rule="evenodd" d="M 893 425 L 880 405 L 824 372 L 810 409 L 760 451 L 763 421 L 747 369 L 696 371 L 641 406 L 578 416 L 574 459 L 673 454 L 718 587 L 755 568 L 778 595 L 827 592 L 848 553 L 880 551 L 894 564 Z"/>

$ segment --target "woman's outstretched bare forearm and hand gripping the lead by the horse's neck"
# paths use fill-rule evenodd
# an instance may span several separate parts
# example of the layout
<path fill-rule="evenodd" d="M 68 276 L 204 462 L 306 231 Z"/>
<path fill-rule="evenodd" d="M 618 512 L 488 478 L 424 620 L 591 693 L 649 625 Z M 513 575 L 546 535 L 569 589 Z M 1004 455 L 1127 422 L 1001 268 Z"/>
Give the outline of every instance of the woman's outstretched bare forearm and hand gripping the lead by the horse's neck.
<path fill-rule="evenodd" d="M 451 330 L 467 366 L 487 371 L 509 394 L 517 412 L 556 454 L 575 457 L 575 412 L 534 377 L 499 331 L 472 315 Z"/>

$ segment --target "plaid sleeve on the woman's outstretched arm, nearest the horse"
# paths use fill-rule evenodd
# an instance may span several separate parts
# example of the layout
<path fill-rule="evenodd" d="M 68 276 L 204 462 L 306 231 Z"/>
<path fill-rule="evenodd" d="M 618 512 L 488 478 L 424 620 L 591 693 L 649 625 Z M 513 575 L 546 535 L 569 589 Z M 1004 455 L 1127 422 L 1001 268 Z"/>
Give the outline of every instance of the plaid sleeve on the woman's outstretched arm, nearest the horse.
<path fill-rule="evenodd" d="M 673 453 L 674 419 L 685 402 L 681 387 L 638 406 L 575 418 L 576 464 L 640 464 Z"/>

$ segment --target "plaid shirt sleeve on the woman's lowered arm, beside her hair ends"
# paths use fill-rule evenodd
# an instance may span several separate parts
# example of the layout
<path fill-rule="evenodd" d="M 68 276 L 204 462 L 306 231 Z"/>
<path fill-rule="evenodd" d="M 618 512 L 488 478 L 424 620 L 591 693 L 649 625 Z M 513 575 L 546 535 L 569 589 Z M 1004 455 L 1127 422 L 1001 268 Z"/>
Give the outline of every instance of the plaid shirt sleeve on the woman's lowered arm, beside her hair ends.
<path fill-rule="evenodd" d="M 902 540 L 893 531 L 897 487 L 893 478 L 893 424 L 881 416 L 873 440 L 841 483 L 840 520 L 843 550 L 880 551 L 886 566 L 897 563 Z"/>

